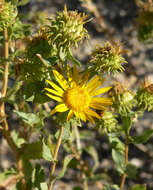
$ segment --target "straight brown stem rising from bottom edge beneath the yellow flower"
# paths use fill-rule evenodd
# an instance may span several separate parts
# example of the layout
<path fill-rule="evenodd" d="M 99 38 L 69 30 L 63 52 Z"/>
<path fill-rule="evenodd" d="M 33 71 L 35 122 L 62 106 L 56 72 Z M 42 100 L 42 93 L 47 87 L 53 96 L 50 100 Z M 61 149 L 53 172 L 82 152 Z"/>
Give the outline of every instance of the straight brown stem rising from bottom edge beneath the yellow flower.
<path fill-rule="evenodd" d="M 54 161 L 53 161 L 52 167 L 51 167 L 50 180 L 49 180 L 49 188 L 48 188 L 48 190 L 52 190 L 52 188 L 53 188 L 52 180 L 54 179 L 54 172 L 55 172 L 55 168 L 56 168 L 56 160 L 57 160 L 59 148 L 60 148 L 60 145 L 61 145 L 61 142 L 62 142 L 63 130 L 64 130 L 64 127 L 62 126 L 62 127 L 60 128 L 60 132 L 59 132 L 57 144 L 56 144 L 56 147 L 55 147 L 55 152 L 54 152 L 54 157 L 53 157 L 53 160 L 54 160 Z"/>

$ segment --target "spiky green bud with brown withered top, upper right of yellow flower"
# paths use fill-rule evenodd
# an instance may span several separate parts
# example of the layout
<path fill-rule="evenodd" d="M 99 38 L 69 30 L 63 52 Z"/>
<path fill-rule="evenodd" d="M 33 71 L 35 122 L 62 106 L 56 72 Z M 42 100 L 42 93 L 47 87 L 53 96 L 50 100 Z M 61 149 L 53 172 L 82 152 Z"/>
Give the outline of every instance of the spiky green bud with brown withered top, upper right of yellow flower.
<path fill-rule="evenodd" d="M 121 50 L 122 44 L 115 44 L 114 46 L 110 42 L 106 42 L 104 46 L 97 47 L 96 50 L 91 54 L 92 59 L 90 61 L 91 71 L 103 74 L 116 74 L 118 71 L 124 71 L 122 63 L 127 63 L 121 56 L 125 50 Z"/>

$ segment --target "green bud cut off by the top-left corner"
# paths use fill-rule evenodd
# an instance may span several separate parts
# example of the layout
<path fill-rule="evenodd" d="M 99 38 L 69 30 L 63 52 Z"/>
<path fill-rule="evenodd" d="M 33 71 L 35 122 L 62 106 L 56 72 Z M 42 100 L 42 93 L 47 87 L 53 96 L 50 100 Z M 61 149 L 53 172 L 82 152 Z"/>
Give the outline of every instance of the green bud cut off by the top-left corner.
<path fill-rule="evenodd" d="M 17 8 L 11 2 L 0 2 L 0 30 L 9 27 L 15 22 L 17 16 Z"/>

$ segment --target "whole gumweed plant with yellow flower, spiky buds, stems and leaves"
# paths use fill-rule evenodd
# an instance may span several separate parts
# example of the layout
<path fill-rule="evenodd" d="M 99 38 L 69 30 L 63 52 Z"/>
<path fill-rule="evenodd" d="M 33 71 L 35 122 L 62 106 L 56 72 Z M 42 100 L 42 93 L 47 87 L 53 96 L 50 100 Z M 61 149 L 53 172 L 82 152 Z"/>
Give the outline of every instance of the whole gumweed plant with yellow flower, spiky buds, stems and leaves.
<path fill-rule="evenodd" d="M 123 43 L 115 39 L 93 47 L 86 64 L 74 56 L 73 50 L 90 39 L 85 25 L 91 19 L 85 13 L 65 5 L 34 28 L 20 20 L 17 7 L 24 4 L 0 0 L 0 133 L 14 157 L 11 168 L 0 173 L 0 189 L 53 190 L 71 168 L 77 176 L 73 190 L 146 190 L 147 184 L 128 185 L 127 179 L 137 178 L 128 155 L 130 144 L 146 143 L 153 134 L 152 129 L 131 133 L 133 122 L 153 110 L 153 84 L 145 79 L 131 90 L 114 80 L 128 64 Z M 150 43 L 152 2 L 139 6 L 138 39 Z M 93 134 L 107 138 L 117 182 L 107 168 L 98 170 Z M 94 164 L 86 162 L 84 153 Z"/>

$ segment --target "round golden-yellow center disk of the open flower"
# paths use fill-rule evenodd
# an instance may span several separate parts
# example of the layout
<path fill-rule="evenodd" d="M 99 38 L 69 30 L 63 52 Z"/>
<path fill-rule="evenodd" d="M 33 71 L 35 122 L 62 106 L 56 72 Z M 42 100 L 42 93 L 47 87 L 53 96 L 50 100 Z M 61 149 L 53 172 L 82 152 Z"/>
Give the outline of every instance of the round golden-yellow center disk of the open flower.
<path fill-rule="evenodd" d="M 90 99 L 88 92 L 80 87 L 69 89 L 64 95 L 67 107 L 80 112 L 89 107 Z"/>

